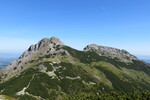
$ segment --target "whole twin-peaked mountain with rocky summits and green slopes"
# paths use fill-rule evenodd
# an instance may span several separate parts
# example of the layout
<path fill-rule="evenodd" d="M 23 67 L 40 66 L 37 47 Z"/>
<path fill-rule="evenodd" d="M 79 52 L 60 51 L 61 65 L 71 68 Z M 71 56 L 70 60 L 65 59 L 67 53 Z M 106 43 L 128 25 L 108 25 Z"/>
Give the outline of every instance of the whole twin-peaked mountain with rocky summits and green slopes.
<path fill-rule="evenodd" d="M 0 70 L 0 94 L 19 100 L 62 100 L 77 93 L 150 90 L 150 65 L 125 50 L 88 45 L 83 51 L 56 37 L 31 45 Z"/>

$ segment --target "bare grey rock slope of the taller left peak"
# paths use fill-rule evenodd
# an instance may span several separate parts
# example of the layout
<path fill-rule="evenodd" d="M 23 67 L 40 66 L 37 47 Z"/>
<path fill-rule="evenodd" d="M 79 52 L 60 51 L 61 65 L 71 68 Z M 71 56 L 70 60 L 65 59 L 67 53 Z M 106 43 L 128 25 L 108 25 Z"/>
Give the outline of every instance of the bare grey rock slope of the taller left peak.
<path fill-rule="evenodd" d="M 58 38 L 44 38 L 35 45 L 31 45 L 18 60 L 12 62 L 5 69 L 0 71 L 1 78 L 9 78 L 11 75 L 17 74 L 19 71 L 25 69 L 24 66 L 38 57 L 45 56 L 48 54 L 64 52 L 63 50 L 56 50 L 57 46 L 63 46 L 64 43 Z"/>

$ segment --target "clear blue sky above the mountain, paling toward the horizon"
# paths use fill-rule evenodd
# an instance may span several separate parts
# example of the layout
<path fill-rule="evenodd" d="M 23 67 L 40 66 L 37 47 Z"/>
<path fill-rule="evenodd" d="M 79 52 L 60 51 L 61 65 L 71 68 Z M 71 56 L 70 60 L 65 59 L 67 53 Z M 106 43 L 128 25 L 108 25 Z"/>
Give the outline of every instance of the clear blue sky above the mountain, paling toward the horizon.
<path fill-rule="evenodd" d="M 96 43 L 150 56 L 149 12 L 150 0 L 0 0 L 0 53 L 56 36 L 79 50 Z"/>

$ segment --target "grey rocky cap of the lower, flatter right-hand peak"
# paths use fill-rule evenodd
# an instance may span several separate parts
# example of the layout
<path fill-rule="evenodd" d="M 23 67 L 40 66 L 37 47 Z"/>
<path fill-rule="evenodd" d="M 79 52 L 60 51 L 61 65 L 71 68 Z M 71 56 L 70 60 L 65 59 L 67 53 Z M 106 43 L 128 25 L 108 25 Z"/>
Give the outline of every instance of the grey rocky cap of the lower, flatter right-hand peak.
<path fill-rule="evenodd" d="M 118 58 L 122 62 L 132 62 L 132 60 L 139 60 L 137 57 L 131 55 L 126 50 L 120 50 L 120 49 L 106 47 L 106 46 L 99 46 L 96 44 L 91 44 L 86 46 L 84 48 L 84 51 L 95 51 L 100 56 Z"/>

